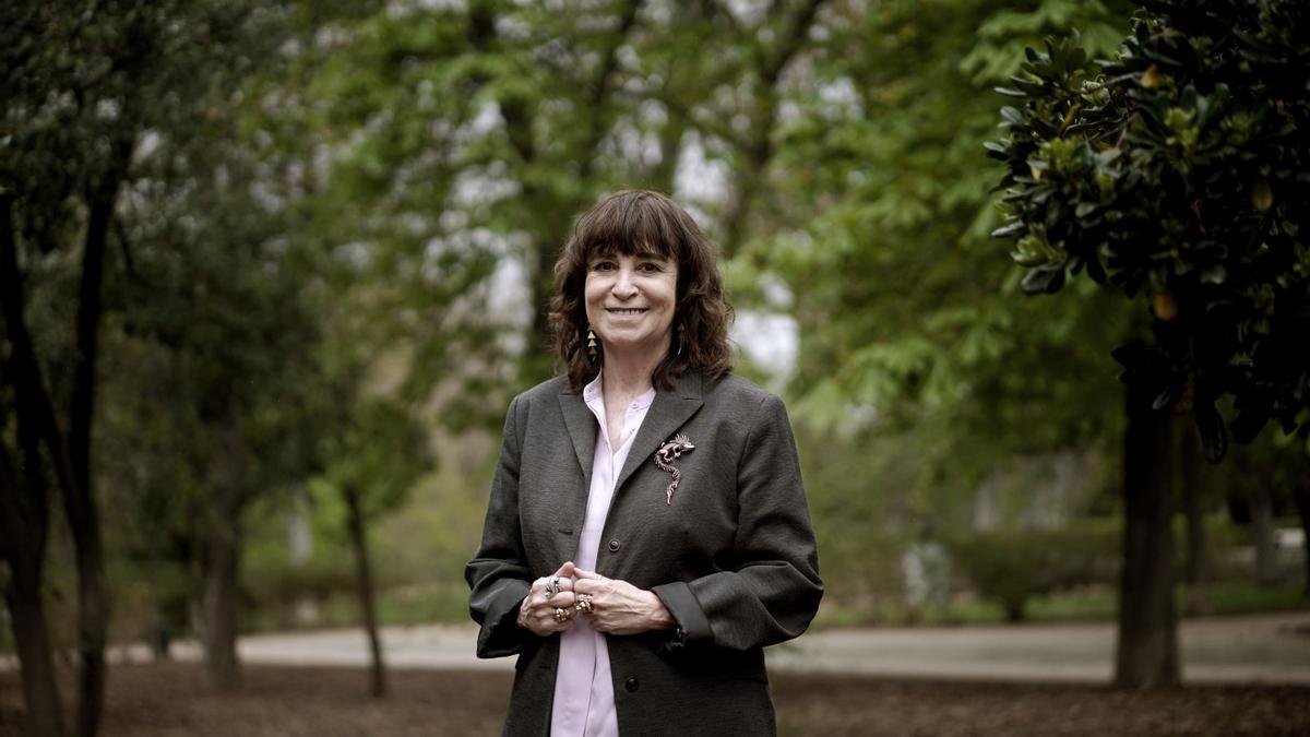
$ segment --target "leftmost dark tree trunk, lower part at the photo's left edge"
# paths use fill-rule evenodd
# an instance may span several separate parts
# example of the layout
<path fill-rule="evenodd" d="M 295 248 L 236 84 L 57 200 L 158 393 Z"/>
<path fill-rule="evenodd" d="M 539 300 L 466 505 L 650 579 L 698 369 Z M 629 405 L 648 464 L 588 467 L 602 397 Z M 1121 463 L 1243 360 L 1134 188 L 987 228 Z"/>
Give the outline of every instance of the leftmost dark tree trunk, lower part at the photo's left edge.
<path fill-rule="evenodd" d="M 8 452 L 0 447 L 0 552 L 9 565 L 5 605 L 22 670 L 28 728 L 33 734 L 62 737 L 63 707 L 41 601 L 50 515 L 43 489 L 31 489 L 29 484 L 20 490 L 20 485 Z"/>

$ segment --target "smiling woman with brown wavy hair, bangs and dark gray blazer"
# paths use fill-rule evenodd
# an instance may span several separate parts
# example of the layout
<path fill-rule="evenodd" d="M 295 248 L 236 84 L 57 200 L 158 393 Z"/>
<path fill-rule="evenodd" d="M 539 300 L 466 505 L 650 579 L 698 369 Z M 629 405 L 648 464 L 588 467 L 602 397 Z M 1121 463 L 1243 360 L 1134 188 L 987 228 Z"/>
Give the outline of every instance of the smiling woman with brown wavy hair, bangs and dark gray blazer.
<path fill-rule="evenodd" d="M 478 657 L 519 656 L 504 733 L 774 733 L 764 647 L 823 584 L 786 409 L 728 374 L 713 250 L 667 197 L 613 194 L 550 308 L 566 375 L 510 405 L 465 569 Z"/>

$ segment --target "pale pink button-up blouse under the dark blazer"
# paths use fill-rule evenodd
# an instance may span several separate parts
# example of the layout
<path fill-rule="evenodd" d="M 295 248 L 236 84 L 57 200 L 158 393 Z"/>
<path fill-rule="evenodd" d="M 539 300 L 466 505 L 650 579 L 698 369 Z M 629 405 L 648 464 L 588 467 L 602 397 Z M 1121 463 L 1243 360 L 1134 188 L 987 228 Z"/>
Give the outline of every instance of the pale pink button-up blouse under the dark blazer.
<path fill-rule="evenodd" d="M 605 428 L 605 397 L 597 375 L 582 391 L 600 429 L 596 455 L 591 463 L 591 489 L 587 492 L 587 515 L 578 540 L 574 564 L 584 570 L 596 569 L 605 517 L 614 496 L 614 480 L 627 460 L 633 438 L 655 401 L 655 389 L 637 397 L 624 414 L 624 431 L 617 448 L 609 447 Z M 618 737 L 618 715 L 614 712 L 614 685 L 609 674 L 609 649 L 605 636 L 576 619 L 559 640 L 559 670 L 555 677 L 554 708 L 550 713 L 552 737 Z"/>

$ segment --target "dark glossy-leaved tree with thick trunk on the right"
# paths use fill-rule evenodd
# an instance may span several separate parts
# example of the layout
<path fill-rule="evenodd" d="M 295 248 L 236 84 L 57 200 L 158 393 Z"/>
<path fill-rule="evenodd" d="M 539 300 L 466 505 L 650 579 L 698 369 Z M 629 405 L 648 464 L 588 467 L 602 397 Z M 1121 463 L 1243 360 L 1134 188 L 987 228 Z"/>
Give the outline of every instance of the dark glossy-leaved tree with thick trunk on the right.
<path fill-rule="evenodd" d="M 1305 20 L 1280 0 L 1148 1 L 1098 71 L 1076 35 L 1030 50 L 1001 89 L 1019 106 L 1002 110 L 1005 138 L 989 144 L 1009 169 L 996 235 L 1018 239 L 1024 291 L 1057 292 L 1085 270 L 1129 299 L 1150 295 L 1150 329 L 1115 353 L 1129 403 L 1125 687 L 1178 681 L 1172 572 L 1159 564 L 1172 555 L 1176 458 L 1165 413 L 1192 408 L 1212 460 L 1229 430 L 1246 442 L 1271 418 L 1310 435 L 1310 363 L 1297 350 L 1310 332 L 1310 96 L 1289 81 L 1310 58 Z M 1227 429 L 1224 397 L 1237 409 Z"/>

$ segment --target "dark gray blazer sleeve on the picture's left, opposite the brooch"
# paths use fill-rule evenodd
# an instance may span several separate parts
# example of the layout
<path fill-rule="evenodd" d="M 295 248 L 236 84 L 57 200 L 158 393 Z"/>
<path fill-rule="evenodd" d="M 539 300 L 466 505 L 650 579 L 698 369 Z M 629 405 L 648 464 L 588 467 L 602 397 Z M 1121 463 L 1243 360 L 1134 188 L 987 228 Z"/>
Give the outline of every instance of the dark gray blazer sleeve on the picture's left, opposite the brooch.
<path fill-rule="evenodd" d="M 464 578 L 472 589 L 469 614 L 482 627 L 477 644 L 481 658 L 515 654 L 533 637 L 517 624 L 519 605 L 532 585 L 519 527 L 519 401 L 510 403 L 504 421 L 482 543 L 464 567 Z"/>

